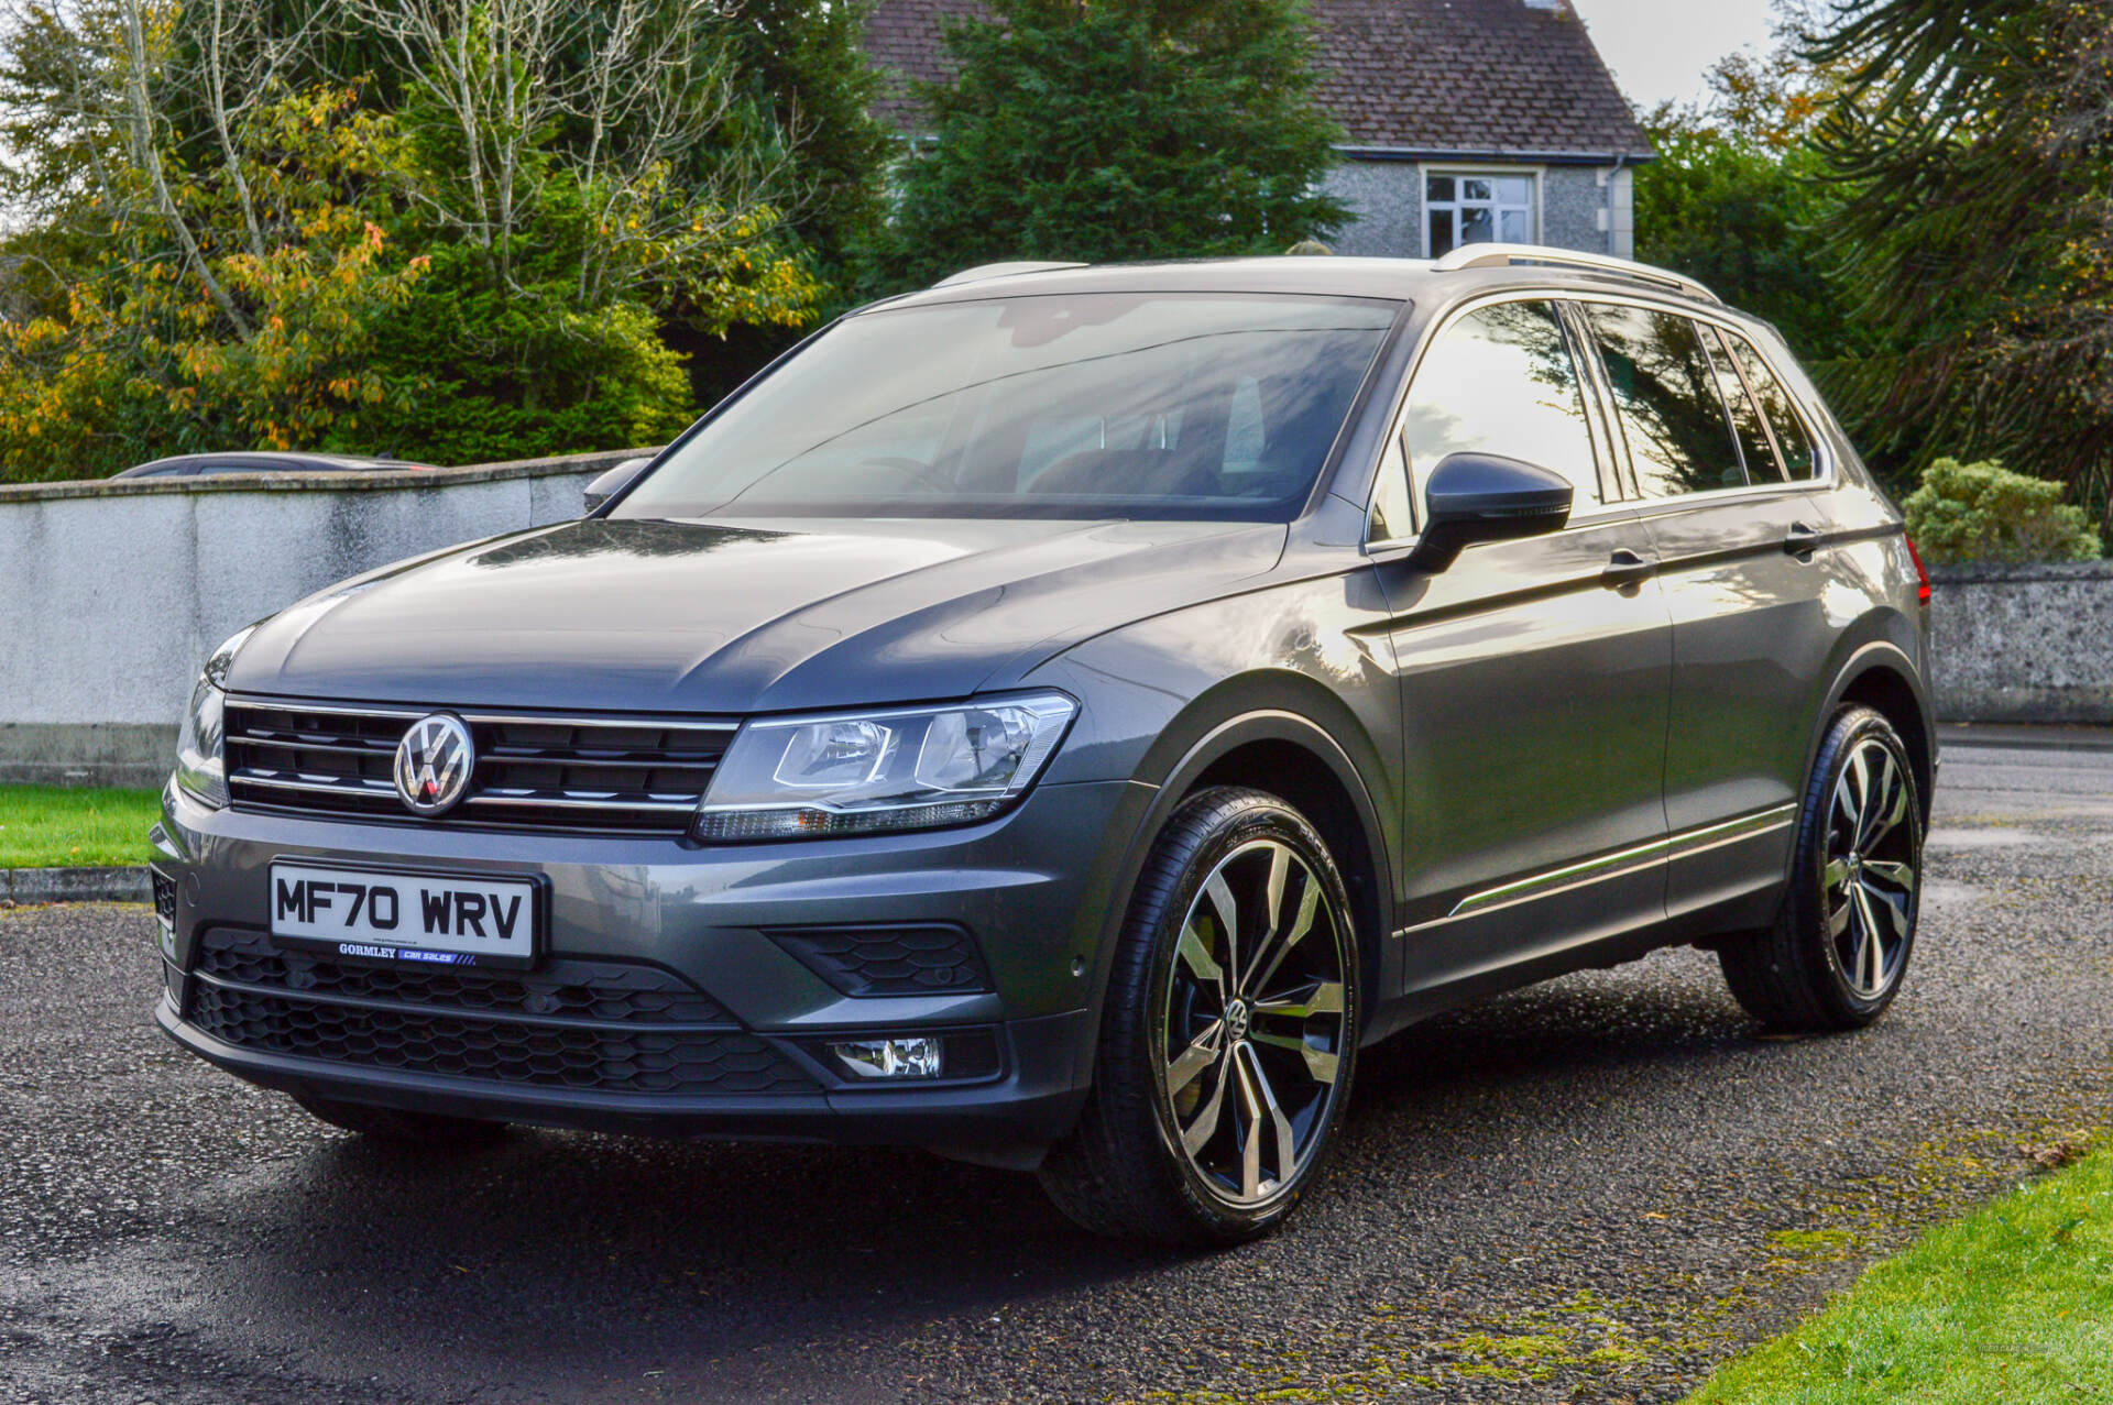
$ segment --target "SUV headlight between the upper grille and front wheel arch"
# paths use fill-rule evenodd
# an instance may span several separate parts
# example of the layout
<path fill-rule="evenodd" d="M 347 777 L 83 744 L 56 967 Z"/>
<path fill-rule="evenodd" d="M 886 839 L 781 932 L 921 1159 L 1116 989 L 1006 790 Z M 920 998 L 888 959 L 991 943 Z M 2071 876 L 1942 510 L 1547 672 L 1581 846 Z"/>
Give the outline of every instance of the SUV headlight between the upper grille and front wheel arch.
<path fill-rule="evenodd" d="M 1063 693 L 750 723 L 697 807 L 697 839 L 972 824 L 1016 801 L 1078 712 Z"/>

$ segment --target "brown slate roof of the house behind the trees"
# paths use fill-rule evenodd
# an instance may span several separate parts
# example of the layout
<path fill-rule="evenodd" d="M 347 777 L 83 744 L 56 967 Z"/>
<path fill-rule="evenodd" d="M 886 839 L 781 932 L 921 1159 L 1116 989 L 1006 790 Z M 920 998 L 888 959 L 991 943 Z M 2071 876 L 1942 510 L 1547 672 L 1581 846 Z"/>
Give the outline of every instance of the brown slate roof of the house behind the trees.
<path fill-rule="evenodd" d="M 1648 156 L 1585 25 L 1564 0 L 1310 0 L 1323 106 L 1354 148 L 1411 152 L 1621 152 Z M 866 53 L 894 74 L 945 80 L 949 15 L 978 0 L 881 0 Z M 902 85 L 879 104 L 919 127 Z"/>

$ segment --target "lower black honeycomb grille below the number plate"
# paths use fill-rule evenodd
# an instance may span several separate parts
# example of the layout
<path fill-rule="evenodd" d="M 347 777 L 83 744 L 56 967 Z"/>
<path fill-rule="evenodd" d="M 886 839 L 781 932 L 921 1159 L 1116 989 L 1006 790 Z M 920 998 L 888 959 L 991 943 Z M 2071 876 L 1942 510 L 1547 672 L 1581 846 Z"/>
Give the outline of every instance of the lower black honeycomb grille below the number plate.
<path fill-rule="evenodd" d="M 816 1086 L 702 991 L 651 966 L 397 972 L 275 951 L 247 932 L 209 932 L 194 974 L 186 1018 L 224 1044 L 270 1054 L 661 1097 Z"/>

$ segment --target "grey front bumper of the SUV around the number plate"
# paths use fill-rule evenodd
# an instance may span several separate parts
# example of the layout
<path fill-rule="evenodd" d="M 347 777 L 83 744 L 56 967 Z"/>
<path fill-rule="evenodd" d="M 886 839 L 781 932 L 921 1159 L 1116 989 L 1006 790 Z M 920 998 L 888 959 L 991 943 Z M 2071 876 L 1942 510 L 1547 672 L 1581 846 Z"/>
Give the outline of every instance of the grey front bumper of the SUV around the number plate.
<path fill-rule="evenodd" d="M 1084 1103 L 1109 875 L 1147 799 L 1120 782 L 1044 786 L 961 830 L 697 847 L 211 811 L 171 790 L 154 862 L 173 892 L 156 1020 L 194 1054 L 287 1092 L 1031 1164 Z M 535 972 L 467 982 L 376 982 L 357 963 L 281 957 L 270 862 L 302 858 L 537 877 L 547 949 Z M 976 978 L 860 993 L 792 940 L 894 925 L 966 932 Z M 653 993 L 598 999 L 604 978 Z M 828 1054 L 833 1039 L 904 1033 L 970 1056 L 932 1082 L 866 1082 Z"/>

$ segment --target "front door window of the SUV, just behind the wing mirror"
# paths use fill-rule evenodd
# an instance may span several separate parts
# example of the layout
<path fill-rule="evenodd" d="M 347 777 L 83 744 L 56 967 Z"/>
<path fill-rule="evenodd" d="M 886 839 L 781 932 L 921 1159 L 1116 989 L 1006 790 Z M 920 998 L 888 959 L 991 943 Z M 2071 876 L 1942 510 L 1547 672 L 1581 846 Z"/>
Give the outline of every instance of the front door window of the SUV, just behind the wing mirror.
<path fill-rule="evenodd" d="M 1422 484 L 1450 454 L 1502 454 L 1562 473 L 1600 503 L 1576 359 L 1551 302 L 1469 313 L 1424 353 L 1403 437 Z"/>

